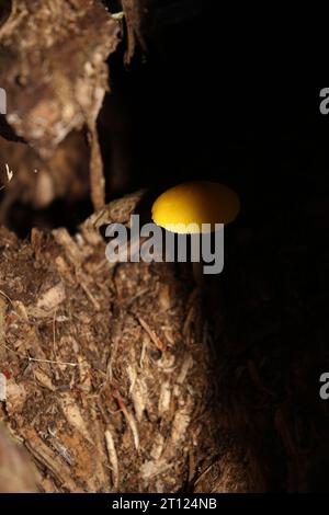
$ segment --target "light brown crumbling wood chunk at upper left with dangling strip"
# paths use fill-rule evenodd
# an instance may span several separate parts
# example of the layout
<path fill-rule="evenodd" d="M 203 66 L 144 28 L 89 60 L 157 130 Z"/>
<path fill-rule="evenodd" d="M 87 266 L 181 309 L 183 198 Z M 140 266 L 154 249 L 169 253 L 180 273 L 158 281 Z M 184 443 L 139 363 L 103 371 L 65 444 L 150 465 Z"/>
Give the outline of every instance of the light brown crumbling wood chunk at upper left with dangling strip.
<path fill-rule="evenodd" d="M 118 32 L 120 23 L 98 0 L 13 0 L 0 25 L 5 118 L 43 158 L 72 129 L 94 126 L 107 89 L 105 60 L 116 49 Z M 93 131 L 91 186 L 100 207 L 104 184 L 98 181 L 102 167 L 95 138 Z"/>

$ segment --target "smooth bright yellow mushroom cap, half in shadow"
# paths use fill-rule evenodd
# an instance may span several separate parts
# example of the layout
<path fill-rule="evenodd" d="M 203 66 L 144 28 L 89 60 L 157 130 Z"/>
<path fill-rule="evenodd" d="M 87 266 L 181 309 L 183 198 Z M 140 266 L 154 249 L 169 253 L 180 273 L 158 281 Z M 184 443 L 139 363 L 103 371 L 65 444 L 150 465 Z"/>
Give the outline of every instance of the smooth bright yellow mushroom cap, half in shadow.
<path fill-rule="evenodd" d="M 152 220 L 172 232 L 208 232 L 203 224 L 211 224 L 211 231 L 214 231 L 215 224 L 229 224 L 239 210 L 239 197 L 229 187 L 209 181 L 193 181 L 162 193 L 152 206 Z"/>

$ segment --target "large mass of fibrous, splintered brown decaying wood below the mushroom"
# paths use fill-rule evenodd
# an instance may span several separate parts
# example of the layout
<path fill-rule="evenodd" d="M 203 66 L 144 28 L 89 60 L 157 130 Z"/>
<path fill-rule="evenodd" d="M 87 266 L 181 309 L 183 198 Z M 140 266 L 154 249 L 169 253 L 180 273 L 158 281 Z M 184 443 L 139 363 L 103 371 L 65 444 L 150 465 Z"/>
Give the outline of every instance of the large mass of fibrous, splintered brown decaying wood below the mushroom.
<path fill-rule="evenodd" d="M 139 198 L 107 213 L 126 221 Z M 3 421 L 35 460 L 42 491 L 200 488 L 223 455 L 200 296 L 174 264 L 113 267 L 93 230 L 90 220 L 89 239 L 34 230 L 31 243 L 0 232 Z M 216 479 L 241 491 L 246 467 L 231 460 Z"/>

